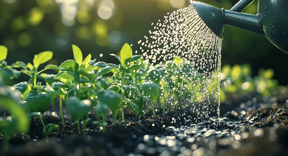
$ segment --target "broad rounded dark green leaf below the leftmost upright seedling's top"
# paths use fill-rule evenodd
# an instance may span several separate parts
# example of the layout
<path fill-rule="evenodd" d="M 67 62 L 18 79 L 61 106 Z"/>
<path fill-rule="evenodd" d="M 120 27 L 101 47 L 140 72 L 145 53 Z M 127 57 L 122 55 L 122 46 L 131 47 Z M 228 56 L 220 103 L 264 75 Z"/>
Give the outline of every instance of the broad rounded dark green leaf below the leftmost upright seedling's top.
<path fill-rule="evenodd" d="M 31 111 L 44 113 L 50 105 L 50 96 L 45 92 L 31 91 L 25 98 Z"/>

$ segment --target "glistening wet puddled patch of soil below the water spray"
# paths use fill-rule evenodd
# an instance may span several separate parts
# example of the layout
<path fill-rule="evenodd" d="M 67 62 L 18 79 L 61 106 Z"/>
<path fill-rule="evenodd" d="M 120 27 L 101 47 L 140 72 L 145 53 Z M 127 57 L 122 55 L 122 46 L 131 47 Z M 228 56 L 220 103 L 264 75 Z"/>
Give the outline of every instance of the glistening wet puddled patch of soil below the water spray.
<path fill-rule="evenodd" d="M 284 123 L 287 124 L 288 118 L 287 106 L 279 107 L 276 101 L 272 97 L 242 103 L 235 111 L 219 118 L 218 124 L 205 120 L 197 124 L 186 122 L 180 127 L 168 126 L 164 134 L 143 136 L 143 142 L 137 145 L 135 153 L 201 156 L 243 155 L 243 151 L 255 151 L 259 154 L 264 142 L 273 149 L 279 132 L 287 129 Z M 246 116 L 243 112 L 247 113 Z M 237 149 L 239 153 L 234 153 Z"/>

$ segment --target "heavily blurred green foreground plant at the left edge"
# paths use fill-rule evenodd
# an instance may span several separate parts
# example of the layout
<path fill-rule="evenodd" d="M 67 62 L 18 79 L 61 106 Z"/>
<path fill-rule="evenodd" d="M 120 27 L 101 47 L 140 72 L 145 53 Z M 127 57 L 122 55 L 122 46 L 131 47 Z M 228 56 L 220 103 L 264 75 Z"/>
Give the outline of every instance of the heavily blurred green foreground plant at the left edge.
<path fill-rule="evenodd" d="M 2 50 L 0 52 L 3 52 Z M 7 152 L 9 138 L 14 133 L 28 133 L 30 126 L 27 115 L 28 107 L 22 102 L 21 93 L 15 90 L 14 87 L 6 85 L 9 79 L 10 75 L 7 75 L 7 71 L 3 70 L 3 66 L 0 66 L 0 109 L 7 111 L 10 115 L 6 118 L 0 118 L 0 133 L 3 135 L 1 138 L 0 155 L 4 155 Z"/>

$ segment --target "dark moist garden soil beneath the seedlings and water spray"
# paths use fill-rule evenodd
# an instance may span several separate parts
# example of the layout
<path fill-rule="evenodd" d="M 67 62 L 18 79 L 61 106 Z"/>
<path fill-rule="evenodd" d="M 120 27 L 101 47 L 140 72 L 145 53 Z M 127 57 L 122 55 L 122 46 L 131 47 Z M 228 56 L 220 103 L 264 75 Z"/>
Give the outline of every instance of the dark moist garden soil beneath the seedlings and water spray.
<path fill-rule="evenodd" d="M 89 115 L 91 121 L 80 135 L 68 116 L 63 127 L 59 115 L 48 112 L 45 124 L 58 124 L 60 132 L 46 138 L 41 122 L 32 119 L 29 134 L 11 138 L 7 155 L 288 155 L 287 98 L 287 93 L 270 98 L 231 95 L 221 105 L 219 121 L 200 123 L 183 110 L 141 119 L 127 113 L 126 122 L 116 124 L 108 116 L 105 133 Z"/>

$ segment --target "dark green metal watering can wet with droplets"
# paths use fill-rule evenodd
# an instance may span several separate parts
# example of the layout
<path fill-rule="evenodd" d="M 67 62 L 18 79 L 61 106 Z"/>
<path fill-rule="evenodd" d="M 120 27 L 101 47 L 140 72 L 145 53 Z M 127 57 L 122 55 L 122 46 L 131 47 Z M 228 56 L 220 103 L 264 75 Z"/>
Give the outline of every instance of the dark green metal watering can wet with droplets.
<path fill-rule="evenodd" d="M 265 36 L 288 54 L 288 0 L 258 0 L 257 15 L 241 13 L 254 0 L 240 0 L 230 10 L 192 1 L 205 24 L 221 39 L 230 25 Z"/>

